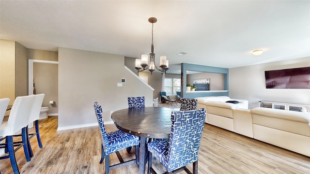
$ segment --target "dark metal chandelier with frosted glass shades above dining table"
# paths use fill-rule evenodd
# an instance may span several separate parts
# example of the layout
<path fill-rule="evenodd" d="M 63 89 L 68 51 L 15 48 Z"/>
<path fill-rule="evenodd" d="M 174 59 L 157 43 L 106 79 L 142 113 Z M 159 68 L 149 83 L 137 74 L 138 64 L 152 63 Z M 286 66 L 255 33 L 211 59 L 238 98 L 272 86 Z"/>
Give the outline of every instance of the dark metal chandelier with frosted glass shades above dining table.
<path fill-rule="evenodd" d="M 167 60 L 166 56 L 159 57 L 159 68 L 157 68 L 157 66 L 155 65 L 153 25 L 155 22 L 157 22 L 157 19 L 155 17 L 150 17 L 149 22 L 152 23 L 152 44 L 151 44 L 150 62 L 148 62 L 148 55 L 141 55 L 141 58 L 136 58 L 135 68 L 138 70 L 138 73 L 141 71 L 149 70 L 152 74 L 155 71 L 155 68 L 160 72 L 166 73 L 166 71 L 169 70 L 169 60 Z"/>

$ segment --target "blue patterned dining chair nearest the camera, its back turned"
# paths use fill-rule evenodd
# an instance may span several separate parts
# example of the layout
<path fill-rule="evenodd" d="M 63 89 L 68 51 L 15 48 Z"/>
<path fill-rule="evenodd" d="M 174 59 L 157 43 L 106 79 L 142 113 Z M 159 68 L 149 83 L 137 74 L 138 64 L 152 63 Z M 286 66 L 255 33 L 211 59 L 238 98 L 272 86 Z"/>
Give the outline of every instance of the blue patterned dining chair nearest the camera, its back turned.
<path fill-rule="evenodd" d="M 204 126 L 205 109 L 173 111 L 171 114 L 170 138 L 148 143 L 148 173 L 156 174 L 152 168 L 152 155 L 166 168 L 166 174 L 186 171 L 187 164 L 193 163 L 193 173 L 198 174 L 198 151 Z"/>

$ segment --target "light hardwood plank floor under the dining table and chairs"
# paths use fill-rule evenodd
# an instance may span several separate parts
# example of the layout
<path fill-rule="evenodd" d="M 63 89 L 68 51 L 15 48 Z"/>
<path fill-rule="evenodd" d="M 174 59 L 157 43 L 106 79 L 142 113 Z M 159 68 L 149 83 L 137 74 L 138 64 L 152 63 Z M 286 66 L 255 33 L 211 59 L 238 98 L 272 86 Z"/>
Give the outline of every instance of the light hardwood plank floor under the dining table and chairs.
<path fill-rule="evenodd" d="M 27 162 L 23 149 L 16 152 L 22 174 L 104 174 L 101 158 L 101 135 L 98 127 L 57 131 L 58 117 L 39 121 L 43 148 L 31 139 L 34 157 Z M 106 125 L 114 131 L 114 125 Z M 33 130 L 32 130 L 33 131 Z M 310 146 L 309 146 L 310 148 Z M 133 149 L 124 160 L 135 158 Z M 118 162 L 116 155 L 110 157 Z M 153 163 L 158 172 L 164 172 L 158 161 Z M 310 158 L 269 145 L 231 131 L 205 124 L 199 152 L 200 174 L 310 174 Z M 192 165 L 188 165 L 190 170 Z M 0 160 L 1 174 L 12 174 L 10 160 Z M 137 174 L 136 164 L 111 170 L 110 174 Z M 180 174 L 185 174 L 184 172 Z"/>

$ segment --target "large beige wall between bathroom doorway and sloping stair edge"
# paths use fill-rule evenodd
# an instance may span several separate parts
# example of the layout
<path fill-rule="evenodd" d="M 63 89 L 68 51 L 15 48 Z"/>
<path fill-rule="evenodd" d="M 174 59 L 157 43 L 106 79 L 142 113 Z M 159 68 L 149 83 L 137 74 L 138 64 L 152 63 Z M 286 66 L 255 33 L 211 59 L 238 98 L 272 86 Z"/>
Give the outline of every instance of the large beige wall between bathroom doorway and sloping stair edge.
<path fill-rule="evenodd" d="M 153 90 L 124 68 L 124 56 L 59 48 L 58 72 L 59 129 L 97 124 L 94 102 L 102 105 L 104 121 L 127 108 L 129 96 L 145 96 L 145 105 L 153 106 Z"/>

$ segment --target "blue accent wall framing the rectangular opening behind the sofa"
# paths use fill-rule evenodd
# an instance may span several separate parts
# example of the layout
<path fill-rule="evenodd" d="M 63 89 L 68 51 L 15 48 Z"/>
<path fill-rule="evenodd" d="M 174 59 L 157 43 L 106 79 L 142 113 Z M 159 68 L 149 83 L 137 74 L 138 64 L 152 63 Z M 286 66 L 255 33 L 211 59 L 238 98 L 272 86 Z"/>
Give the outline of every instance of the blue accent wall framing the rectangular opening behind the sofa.
<path fill-rule="evenodd" d="M 197 71 L 205 73 L 222 73 L 224 74 L 224 91 L 215 91 L 212 90 L 208 92 L 186 92 L 186 71 Z M 228 96 L 228 69 L 227 68 L 218 68 L 211 66 L 195 65 L 189 63 L 181 63 L 181 95 L 184 98 L 196 98 L 196 97 L 205 97 L 205 96 Z"/>

